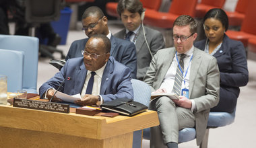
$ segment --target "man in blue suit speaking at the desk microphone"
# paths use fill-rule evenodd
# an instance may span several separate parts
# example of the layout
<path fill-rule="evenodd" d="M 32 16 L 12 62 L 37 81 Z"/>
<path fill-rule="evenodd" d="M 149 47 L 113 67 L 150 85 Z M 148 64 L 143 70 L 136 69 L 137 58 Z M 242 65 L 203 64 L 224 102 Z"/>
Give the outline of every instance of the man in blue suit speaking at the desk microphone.
<path fill-rule="evenodd" d="M 39 88 L 41 98 L 52 98 L 53 89 L 75 95 L 81 94 L 82 100 L 75 103 L 100 105 L 117 98 L 133 99 L 131 70 L 110 57 L 110 40 L 102 35 L 91 36 L 86 43 L 84 58 L 69 59 L 54 77 Z M 54 97 L 53 101 L 61 101 Z"/>

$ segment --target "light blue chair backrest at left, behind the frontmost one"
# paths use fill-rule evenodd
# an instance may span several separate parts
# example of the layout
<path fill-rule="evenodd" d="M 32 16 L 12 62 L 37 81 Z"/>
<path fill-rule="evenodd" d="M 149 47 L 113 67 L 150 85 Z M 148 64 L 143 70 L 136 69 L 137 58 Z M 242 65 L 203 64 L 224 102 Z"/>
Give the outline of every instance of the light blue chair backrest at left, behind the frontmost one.
<path fill-rule="evenodd" d="M 0 48 L 24 51 L 23 89 L 37 93 L 38 38 L 31 36 L 0 35 Z"/>

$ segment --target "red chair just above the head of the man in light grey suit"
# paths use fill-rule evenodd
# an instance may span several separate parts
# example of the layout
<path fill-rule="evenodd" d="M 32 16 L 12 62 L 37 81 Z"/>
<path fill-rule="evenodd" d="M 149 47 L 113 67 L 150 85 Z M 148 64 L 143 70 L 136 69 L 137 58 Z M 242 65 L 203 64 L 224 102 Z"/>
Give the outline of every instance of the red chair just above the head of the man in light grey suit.
<path fill-rule="evenodd" d="M 143 23 L 158 28 L 172 28 L 174 20 L 176 20 L 179 15 L 190 15 L 194 17 L 195 5 L 197 5 L 197 0 L 172 0 L 168 12 L 146 9 Z"/>

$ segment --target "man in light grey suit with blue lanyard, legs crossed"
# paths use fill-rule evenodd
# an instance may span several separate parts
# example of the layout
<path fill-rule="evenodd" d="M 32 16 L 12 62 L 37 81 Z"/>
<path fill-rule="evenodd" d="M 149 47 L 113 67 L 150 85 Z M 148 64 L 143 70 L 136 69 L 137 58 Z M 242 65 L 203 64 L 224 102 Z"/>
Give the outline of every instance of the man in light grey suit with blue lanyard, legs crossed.
<path fill-rule="evenodd" d="M 197 145 L 203 139 L 210 108 L 219 101 L 220 72 L 216 59 L 193 46 L 197 38 L 193 17 L 181 15 L 173 24 L 174 48 L 158 50 L 143 81 L 152 92 L 174 93 L 150 103 L 160 126 L 151 128 L 150 147 L 178 147 L 179 130 L 195 128 Z"/>

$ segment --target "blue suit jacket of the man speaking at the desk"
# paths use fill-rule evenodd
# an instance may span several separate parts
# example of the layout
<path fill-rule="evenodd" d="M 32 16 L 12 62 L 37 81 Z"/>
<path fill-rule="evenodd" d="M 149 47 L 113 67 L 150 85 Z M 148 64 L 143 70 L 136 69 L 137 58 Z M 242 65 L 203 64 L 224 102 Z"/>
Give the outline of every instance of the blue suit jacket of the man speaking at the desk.
<path fill-rule="evenodd" d="M 51 87 L 57 89 L 59 84 L 67 77 L 71 79 L 65 79 L 63 87 L 59 91 L 68 95 L 81 94 L 86 80 L 86 73 L 87 70 L 83 58 L 69 59 L 61 71 L 56 73 L 49 81 L 42 84 L 39 88 L 39 94 L 42 97 L 42 94 L 47 89 Z M 104 69 L 100 85 L 100 95 L 104 102 L 109 102 L 117 98 L 133 99 L 131 70 L 115 61 L 113 57 L 109 58 Z"/>

